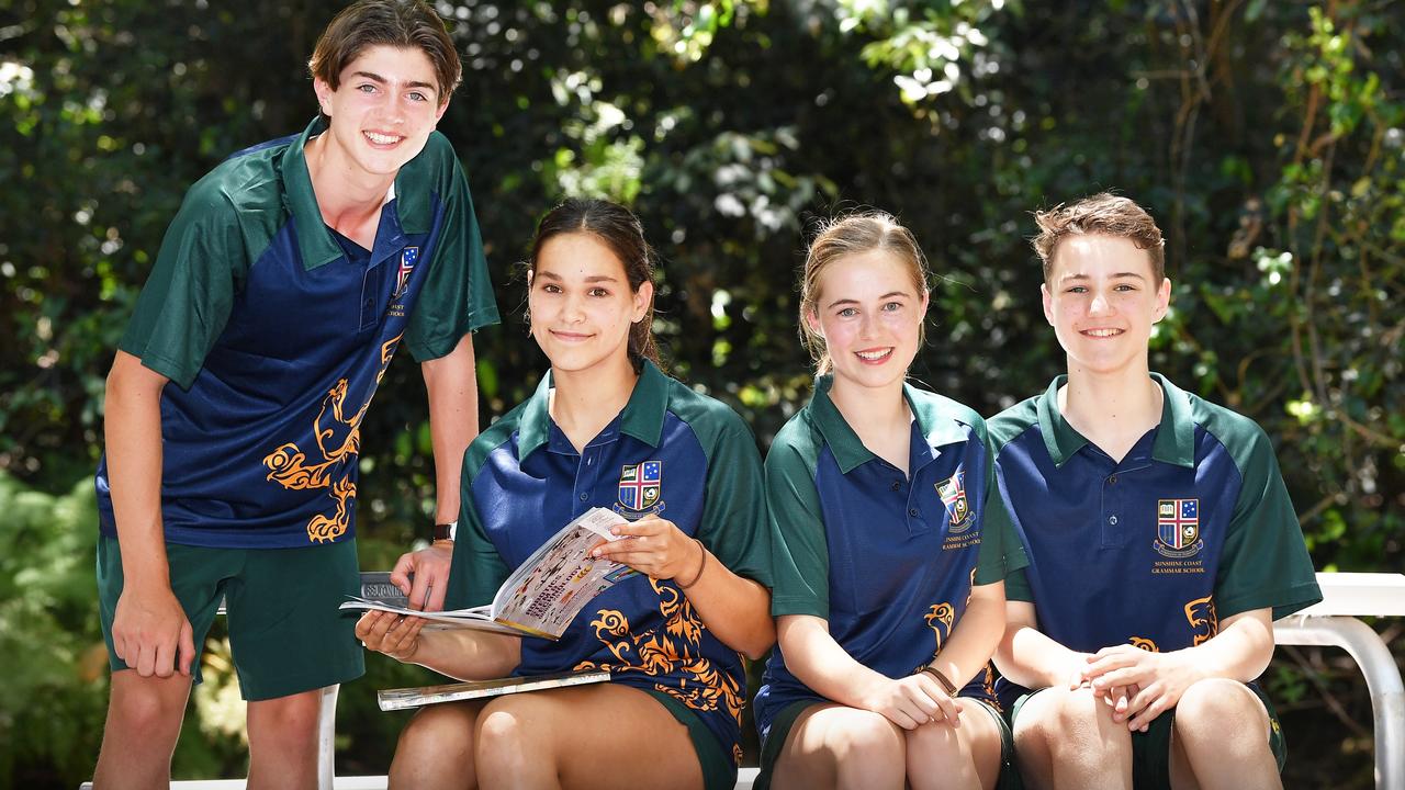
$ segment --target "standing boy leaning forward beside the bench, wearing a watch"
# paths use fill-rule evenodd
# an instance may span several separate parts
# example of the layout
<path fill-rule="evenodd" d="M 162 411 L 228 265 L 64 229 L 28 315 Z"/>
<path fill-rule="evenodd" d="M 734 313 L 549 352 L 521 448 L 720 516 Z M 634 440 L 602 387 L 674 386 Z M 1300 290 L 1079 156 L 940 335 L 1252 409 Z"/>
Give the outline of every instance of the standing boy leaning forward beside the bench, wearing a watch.
<path fill-rule="evenodd" d="M 458 512 L 469 333 L 497 319 L 468 183 L 434 132 L 458 55 L 424 3 L 374 0 L 332 21 L 309 67 L 319 117 L 191 187 L 108 374 L 104 790 L 167 782 L 222 597 L 249 786 L 315 786 L 318 690 L 362 672 L 337 616 L 357 589 L 360 425 L 402 342 L 429 389 L 437 522 Z M 445 568 L 420 571 L 423 604 Z"/>

